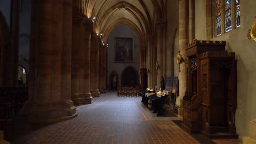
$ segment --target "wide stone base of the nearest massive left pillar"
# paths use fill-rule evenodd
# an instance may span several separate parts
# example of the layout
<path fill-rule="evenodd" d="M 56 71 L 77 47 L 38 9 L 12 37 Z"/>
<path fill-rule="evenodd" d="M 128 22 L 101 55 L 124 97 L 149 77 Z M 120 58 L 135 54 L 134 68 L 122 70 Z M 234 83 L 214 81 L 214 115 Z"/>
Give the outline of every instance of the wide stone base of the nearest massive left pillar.
<path fill-rule="evenodd" d="M 77 117 L 77 108 L 72 100 L 58 101 L 48 104 L 26 101 L 21 115 L 27 116 L 30 123 L 53 123 Z"/>

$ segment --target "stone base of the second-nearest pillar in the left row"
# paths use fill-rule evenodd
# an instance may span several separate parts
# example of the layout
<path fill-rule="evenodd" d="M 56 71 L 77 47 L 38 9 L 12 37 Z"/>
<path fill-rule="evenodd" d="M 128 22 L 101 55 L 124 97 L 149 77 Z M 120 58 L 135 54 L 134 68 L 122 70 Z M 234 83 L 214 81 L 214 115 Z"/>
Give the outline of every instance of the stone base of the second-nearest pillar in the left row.
<path fill-rule="evenodd" d="M 74 105 L 91 104 L 93 102 L 91 93 L 75 93 L 71 99 Z"/>

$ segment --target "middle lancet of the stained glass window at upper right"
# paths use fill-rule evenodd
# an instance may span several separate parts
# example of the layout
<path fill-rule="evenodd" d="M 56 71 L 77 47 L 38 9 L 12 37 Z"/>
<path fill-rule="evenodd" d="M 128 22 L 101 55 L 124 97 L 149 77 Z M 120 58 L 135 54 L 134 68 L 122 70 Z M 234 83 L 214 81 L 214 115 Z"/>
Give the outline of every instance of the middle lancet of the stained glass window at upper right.
<path fill-rule="evenodd" d="M 225 32 L 229 32 L 231 29 L 231 0 L 225 0 Z"/>

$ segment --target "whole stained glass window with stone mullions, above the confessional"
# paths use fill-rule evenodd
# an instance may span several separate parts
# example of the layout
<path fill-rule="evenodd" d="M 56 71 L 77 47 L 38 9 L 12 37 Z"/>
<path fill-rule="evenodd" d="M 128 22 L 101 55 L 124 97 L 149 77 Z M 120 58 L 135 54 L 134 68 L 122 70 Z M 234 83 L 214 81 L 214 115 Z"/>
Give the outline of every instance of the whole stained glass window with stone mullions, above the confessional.
<path fill-rule="evenodd" d="M 215 35 L 218 37 L 240 27 L 240 0 L 213 0 L 215 10 Z"/>

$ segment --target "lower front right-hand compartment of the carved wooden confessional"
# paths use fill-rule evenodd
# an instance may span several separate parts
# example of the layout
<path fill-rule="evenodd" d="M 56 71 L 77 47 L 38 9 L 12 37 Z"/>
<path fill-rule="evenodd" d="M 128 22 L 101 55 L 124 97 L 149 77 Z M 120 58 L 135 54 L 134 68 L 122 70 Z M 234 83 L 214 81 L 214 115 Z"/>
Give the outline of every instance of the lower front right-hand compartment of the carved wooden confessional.
<path fill-rule="evenodd" d="M 208 134 L 229 131 L 229 106 L 233 106 L 231 91 L 236 91 L 229 82 L 236 79 L 232 74 L 235 52 L 205 52 L 200 57 L 202 130 Z"/>

